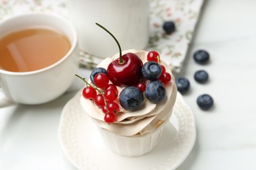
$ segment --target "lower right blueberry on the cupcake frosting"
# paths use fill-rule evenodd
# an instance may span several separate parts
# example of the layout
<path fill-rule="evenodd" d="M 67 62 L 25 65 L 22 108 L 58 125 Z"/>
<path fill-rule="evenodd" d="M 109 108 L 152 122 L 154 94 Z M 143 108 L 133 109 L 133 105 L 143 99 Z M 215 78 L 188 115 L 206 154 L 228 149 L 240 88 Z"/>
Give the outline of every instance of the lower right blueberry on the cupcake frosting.
<path fill-rule="evenodd" d="M 151 103 L 160 103 L 164 99 L 165 93 L 165 87 L 159 80 L 149 82 L 146 85 L 145 95 Z"/>

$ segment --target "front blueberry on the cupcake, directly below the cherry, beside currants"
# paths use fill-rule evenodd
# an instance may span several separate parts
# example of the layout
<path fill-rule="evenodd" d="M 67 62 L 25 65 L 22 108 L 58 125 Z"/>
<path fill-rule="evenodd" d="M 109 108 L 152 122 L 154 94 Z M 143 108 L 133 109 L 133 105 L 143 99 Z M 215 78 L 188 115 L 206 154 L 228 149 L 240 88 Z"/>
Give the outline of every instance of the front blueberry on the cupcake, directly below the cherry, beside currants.
<path fill-rule="evenodd" d="M 134 86 L 127 86 L 119 95 L 121 107 L 123 107 L 125 110 L 138 109 L 142 105 L 143 100 L 143 93 L 139 90 L 139 88 Z"/>

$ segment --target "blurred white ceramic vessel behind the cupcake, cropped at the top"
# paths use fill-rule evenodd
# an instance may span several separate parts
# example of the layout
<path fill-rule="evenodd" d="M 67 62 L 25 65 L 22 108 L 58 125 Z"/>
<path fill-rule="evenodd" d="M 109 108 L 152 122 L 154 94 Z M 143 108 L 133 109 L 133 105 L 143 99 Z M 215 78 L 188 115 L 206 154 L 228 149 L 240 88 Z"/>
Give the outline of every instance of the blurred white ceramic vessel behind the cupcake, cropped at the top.
<path fill-rule="evenodd" d="M 118 52 L 114 39 L 98 23 L 108 29 L 121 48 L 144 49 L 149 39 L 149 0 L 67 0 L 68 19 L 74 24 L 81 50 L 100 57 Z"/>

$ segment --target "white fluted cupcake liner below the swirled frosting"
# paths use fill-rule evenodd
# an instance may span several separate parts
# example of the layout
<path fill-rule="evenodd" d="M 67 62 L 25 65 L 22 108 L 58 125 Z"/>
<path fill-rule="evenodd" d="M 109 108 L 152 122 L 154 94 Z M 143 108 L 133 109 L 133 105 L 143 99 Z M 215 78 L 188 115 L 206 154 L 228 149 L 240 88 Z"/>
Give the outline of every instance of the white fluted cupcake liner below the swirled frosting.
<path fill-rule="evenodd" d="M 167 119 L 154 129 L 154 131 L 143 135 L 121 136 L 101 127 L 98 127 L 98 129 L 106 146 L 116 154 L 129 157 L 142 156 L 158 145 L 163 132 L 163 127 L 169 122 L 170 117 L 171 114 L 169 114 Z"/>

